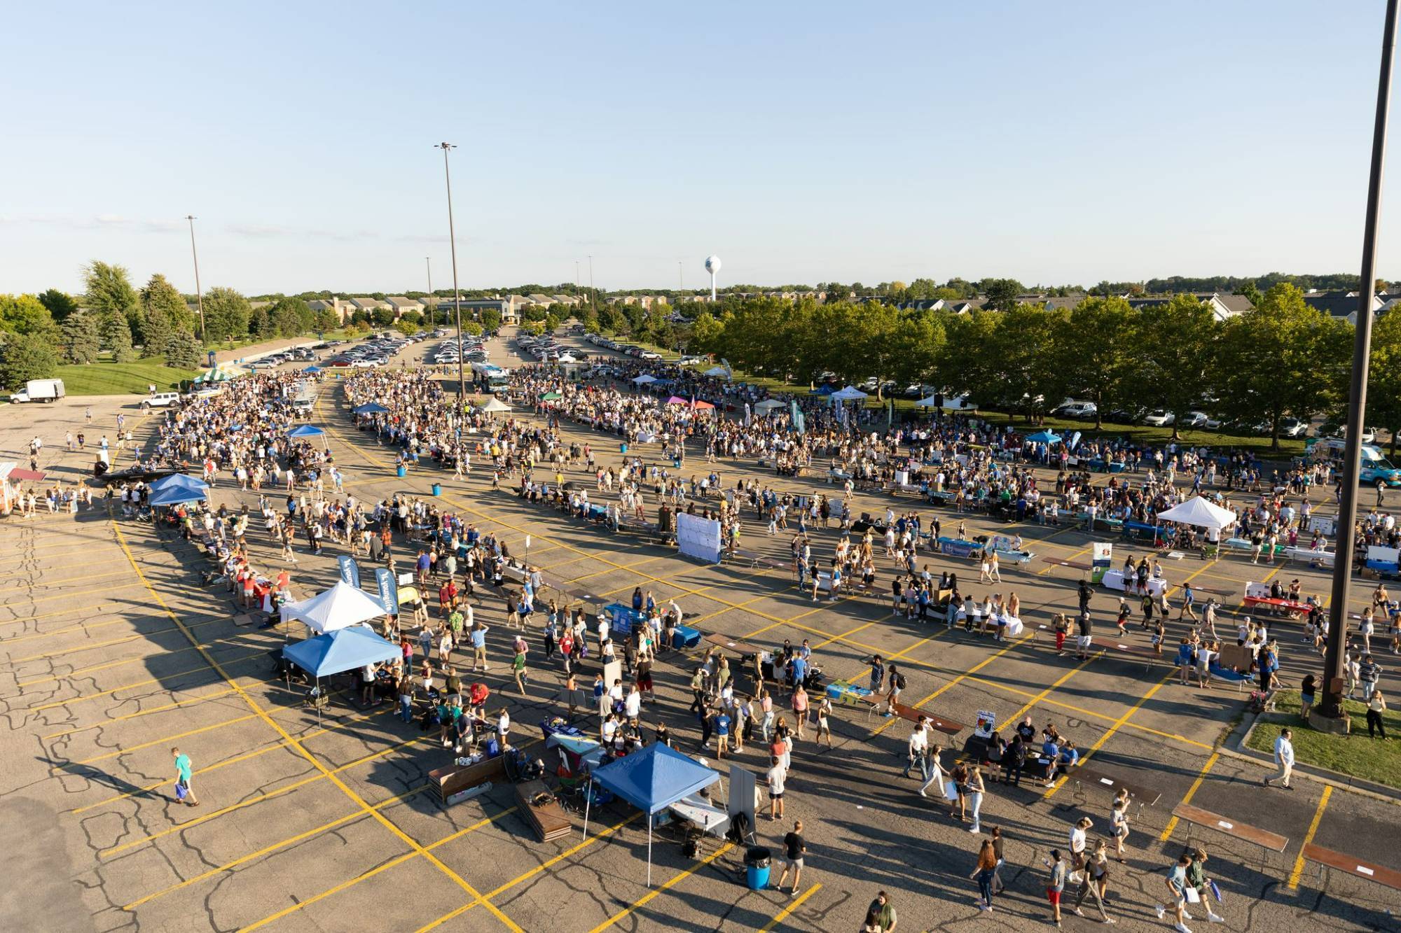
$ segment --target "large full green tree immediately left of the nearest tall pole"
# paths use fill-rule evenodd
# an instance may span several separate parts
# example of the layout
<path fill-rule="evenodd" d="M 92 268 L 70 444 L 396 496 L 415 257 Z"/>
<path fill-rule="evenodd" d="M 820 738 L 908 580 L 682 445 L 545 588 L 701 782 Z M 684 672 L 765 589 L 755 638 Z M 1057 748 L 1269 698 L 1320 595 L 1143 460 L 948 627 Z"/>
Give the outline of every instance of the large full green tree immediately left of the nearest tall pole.
<path fill-rule="evenodd" d="M 1224 410 L 1264 427 L 1278 450 L 1283 417 L 1307 422 L 1342 399 L 1349 333 L 1345 322 L 1306 304 L 1297 286 L 1272 286 L 1259 304 L 1226 324 Z"/>

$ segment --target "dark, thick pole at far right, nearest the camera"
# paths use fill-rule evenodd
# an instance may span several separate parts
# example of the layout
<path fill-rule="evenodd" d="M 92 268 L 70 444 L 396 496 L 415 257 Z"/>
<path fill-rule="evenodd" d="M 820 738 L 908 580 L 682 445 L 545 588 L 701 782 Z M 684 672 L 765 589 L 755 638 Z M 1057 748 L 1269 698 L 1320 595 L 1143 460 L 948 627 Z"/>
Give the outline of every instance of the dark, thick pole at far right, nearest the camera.
<path fill-rule="evenodd" d="M 1391 102 L 1391 55 L 1397 46 L 1397 0 L 1387 0 L 1381 34 L 1381 74 L 1377 81 L 1377 115 L 1372 129 L 1372 177 L 1367 181 L 1367 219 L 1362 231 L 1362 289 L 1358 291 L 1358 326 L 1352 345 L 1352 391 L 1348 394 L 1348 440 L 1342 459 L 1342 495 L 1338 497 L 1338 542 L 1332 560 L 1332 601 L 1328 604 L 1328 650 L 1324 654 L 1321 720 L 1341 723 L 1342 646 L 1348 632 L 1348 588 L 1358 523 L 1358 472 L 1362 458 L 1362 416 L 1367 405 L 1367 364 L 1372 357 L 1372 315 L 1377 282 L 1377 231 L 1381 210 L 1381 165 L 1387 153 L 1387 112 Z M 1320 723 L 1330 726 L 1331 723 Z M 1341 730 L 1339 730 L 1341 731 Z"/>

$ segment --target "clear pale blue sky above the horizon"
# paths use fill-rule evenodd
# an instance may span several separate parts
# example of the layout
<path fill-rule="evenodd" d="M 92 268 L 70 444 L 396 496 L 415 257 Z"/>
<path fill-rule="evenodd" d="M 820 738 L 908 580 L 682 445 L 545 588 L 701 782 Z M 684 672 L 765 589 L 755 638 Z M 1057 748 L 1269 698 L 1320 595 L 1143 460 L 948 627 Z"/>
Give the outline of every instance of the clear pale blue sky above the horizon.
<path fill-rule="evenodd" d="M 0 291 L 1355 272 L 1383 10 L 13 6 Z"/>

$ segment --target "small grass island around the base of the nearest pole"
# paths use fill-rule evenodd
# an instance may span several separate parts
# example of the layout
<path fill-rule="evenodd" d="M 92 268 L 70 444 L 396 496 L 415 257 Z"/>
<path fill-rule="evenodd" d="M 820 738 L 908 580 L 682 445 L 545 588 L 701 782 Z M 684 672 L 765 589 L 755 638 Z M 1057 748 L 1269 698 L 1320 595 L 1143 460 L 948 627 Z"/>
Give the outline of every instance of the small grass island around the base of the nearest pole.
<path fill-rule="evenodd" d="M 1299 692 L 1281 691 L 1275 695 L 1276 713 L 1265 713 L 1255 721 L 1255 728 L 1245 742 L 1255 751 L 1272 754 L 1281 726 L 1295 730 L 1295 759 L 1307 765 L 1318 765 L 1332 770 L 1374 780 L 1379 785 L 1401 787 L 1401 710 L 1387 709 L 1381 720 L 1387 726 L 1391 741 L 1367 738 L 1367 707 L 1362 703 L 1344 700 L 1348 716 L 1352 717 L 1352 735 L 1330 735 L 1304 724 L 1299 719 Z M 1387 700 L 1391 705 L 1391 700 Z"/>

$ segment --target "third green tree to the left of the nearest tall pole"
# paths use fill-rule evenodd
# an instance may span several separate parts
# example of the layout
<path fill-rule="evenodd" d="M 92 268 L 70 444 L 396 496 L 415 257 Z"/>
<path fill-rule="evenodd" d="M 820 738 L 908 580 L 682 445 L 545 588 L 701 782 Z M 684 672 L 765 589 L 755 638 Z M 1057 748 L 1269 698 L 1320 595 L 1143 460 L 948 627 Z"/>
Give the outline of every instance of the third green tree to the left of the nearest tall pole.
<path fill-rule="evenodd" d="M 1096 403 L 1094 426 L 1133 380 L 1135 312 L 1124 298 L 1090 297 L 1070 311 L 1055 336 L 1065 391 Z"/>

